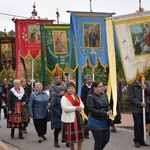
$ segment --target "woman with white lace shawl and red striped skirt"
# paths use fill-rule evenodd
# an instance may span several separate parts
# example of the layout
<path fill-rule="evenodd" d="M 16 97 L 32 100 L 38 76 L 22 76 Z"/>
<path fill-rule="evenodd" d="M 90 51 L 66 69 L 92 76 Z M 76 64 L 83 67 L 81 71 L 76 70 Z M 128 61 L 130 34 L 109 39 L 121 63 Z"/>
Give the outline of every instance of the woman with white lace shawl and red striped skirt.
<path fill-rule="evenodd" d="M 14 80 L 14 87 L 8 93 L 8 119 L 7 127 L 11 129 L 11 138 L 14 138 L 15 128 L 19 129 L 19 138 L 24 139 L 22 130 L 28 125 L 28 114 L 24 107 L 26 95 L 21 87 L 20 80 Z"/>

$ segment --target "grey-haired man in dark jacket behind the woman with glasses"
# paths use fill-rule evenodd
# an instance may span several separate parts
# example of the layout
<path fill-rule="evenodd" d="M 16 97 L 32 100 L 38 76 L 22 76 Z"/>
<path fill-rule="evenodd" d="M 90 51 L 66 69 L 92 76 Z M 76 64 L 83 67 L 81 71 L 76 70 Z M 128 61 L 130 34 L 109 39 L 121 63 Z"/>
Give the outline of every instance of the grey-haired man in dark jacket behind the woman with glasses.
<path fill-rule="evenodd" d="M 87 116 L 89 115 L 89 111 L 87 109 L 86 100 L 87 100 L 88 93 L 91 90 L 91 85 L 92 85 L 91 76 L 89 74 L 86 74 L 84 76 L 84 84 L 82 85 L 82 89 L 81 89 L 81 100 L 84 104 L 84 112 Z M 89 139 L 89 128 L 88 128 L 86 120 L 85 120 L 84 124 L 85 124 L 85 126 L 84 126 L 84 136 L 85 136 L 86 139 Z"/>

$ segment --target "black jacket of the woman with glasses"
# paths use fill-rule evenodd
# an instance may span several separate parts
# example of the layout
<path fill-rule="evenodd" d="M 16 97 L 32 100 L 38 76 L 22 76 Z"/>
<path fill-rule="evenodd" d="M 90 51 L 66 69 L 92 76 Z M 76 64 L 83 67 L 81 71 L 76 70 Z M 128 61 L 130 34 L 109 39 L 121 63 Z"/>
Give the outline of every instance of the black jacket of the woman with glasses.
<path fill-rule="evenodd" d="M 98 120 L 107 120 L 107 111 L 110 110 L 106 93 L 100 95 L 92 93 L 87 97 L 87 107 L 90 116 Z"/>

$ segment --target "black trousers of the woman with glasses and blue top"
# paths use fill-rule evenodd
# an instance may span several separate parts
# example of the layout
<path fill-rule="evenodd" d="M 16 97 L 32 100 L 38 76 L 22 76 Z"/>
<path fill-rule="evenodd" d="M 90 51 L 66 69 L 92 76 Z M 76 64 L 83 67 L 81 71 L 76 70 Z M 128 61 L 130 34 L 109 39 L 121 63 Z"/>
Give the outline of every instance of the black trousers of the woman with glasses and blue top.
<path fill-rule="evenodd" d="M 94 137 L 94 150 L 103 150 L 110 139 L 110 129 L 91 130 Z"/>

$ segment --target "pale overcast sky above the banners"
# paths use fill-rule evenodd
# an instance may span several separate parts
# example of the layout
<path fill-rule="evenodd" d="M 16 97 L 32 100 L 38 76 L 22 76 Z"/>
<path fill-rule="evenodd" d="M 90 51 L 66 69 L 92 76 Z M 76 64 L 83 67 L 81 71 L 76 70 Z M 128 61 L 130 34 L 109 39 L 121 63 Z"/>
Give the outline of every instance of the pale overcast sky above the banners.
<path fill-rule="evenodd" d="M 69 23 L 70 11 L 90 11 L 90 0 L 0 0 L 0 30 L 15 30 L 11 21 L 13 16 L 31 17 L 33 4 L 36 4 L 38 16 L 56 20 L 56 9 L 60 13 L 60 22 Z M 150 10 L 150 0 L 141 0 L 142 8 Z M 116 15 L 134 13 L 139 9 L 139 0 L 91 0 L 93 12 L 115 12 Z M 19 18 L 19 17 L 16 17 Z M 22 18 L 20 18 L 22 19 Z"/>

